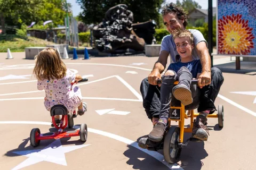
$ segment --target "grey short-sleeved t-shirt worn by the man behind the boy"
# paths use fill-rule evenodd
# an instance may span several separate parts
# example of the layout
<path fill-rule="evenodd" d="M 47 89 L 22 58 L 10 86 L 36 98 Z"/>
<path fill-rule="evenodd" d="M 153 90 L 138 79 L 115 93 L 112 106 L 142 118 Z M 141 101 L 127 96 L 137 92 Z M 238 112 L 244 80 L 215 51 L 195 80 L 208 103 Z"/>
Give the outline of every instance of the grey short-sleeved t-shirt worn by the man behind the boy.
<path fill-rule="evenodd" d="M 195 47 L 201 41 L 205 41 L 206 46 L 208 46 L 207 41 L 205 40 L 204 36 L 202 35 L 202 33 L 200 31 L 195 30 L 195 29 L 188 29 L 188 31 L 190 31 L 194 36 Z M 171 63 L 176 63 L 175 56 L 179 55 L 179 53 L 177 52 L 177 48 L 174 43 L 172 35 L 167 35 L 167 36 L 163 37 L 160 53 L 162 52 L 162 50 L 166 50 L 167 52 L 169 52 L 169 54 L 171 56 Z M 200 57 L 196 52 L 196 48 L 194 48 L 192 50 L 192 57 L 194 60 L 200 60 Z"/>

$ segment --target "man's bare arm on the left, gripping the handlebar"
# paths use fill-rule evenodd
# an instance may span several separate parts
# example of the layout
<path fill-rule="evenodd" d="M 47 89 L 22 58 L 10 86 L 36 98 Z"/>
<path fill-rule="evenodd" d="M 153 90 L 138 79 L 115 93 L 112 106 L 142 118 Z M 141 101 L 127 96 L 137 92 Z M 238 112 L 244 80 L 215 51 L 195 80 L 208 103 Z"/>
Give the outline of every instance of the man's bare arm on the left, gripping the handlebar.
<path fill-rule="evenodd" d="M 168 56 L 169 52 L 167 52 L 166 50 L 161 51 L 158 60 L 153 67 L 153 70 L 148 75 L 149 84 L 157 85 L 157 79 L 161 78 L 161 73 L 163 73 L 166 67 Z"/>

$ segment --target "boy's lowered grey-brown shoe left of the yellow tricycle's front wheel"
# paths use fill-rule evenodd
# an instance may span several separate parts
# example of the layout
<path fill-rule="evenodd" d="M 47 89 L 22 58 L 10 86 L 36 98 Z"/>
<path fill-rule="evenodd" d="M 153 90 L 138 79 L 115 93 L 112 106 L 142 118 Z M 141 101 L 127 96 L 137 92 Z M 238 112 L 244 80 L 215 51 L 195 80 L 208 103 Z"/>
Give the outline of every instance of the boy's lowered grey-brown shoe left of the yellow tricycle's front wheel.
<path fill-rule="evenodd" d="M 148 139 L 154 142 L 159 142 L 163 139 L 164 132 L 165 125 L 163 123 L 157 123 L 149 133 Z"/>

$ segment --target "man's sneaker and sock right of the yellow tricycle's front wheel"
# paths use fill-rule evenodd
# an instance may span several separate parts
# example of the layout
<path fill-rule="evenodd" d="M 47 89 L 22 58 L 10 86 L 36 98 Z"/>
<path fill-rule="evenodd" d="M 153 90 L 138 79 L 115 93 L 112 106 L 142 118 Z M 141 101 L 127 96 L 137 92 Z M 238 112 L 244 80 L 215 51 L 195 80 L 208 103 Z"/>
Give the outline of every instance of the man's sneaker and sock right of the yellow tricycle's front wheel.
<path fill-rule="evenodd" d="M 192 137 L 201 141 L 207 141 L 209 130 L 207 128 L 207 118 L 203 115 L 198 115 L 194 120 Z"/>

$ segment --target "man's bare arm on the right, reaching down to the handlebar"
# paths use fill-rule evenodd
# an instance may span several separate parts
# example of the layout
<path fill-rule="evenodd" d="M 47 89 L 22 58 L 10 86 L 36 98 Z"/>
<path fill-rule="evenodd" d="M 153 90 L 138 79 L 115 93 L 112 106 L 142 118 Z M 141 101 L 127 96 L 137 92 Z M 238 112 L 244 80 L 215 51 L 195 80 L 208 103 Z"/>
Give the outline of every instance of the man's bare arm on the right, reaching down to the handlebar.
<path fill-rule="evenodd" d="M 211 84 L 211 58 L 204 41 L 196 45 L 196 52 L 200 56 L 202 73 L 198 78 L 198 86 L 203 87 Z"/>

